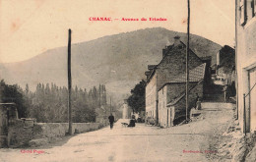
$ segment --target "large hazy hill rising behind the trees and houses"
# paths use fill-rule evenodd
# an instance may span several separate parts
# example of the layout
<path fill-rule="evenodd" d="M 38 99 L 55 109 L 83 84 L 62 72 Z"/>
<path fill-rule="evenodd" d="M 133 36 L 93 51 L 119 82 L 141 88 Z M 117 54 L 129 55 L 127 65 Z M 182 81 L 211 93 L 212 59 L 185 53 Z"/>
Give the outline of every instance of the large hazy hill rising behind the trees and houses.
<path fill-rule="evenodd" d="M 119 96 L 127 96 L 138 81 L 145 79 L 149 64 L 158 64 L 161 49 L 172 44 L 173 37 L 179 35 L 186 42 L 186 34 L 162 27 L 139 29 L 72 44 L 73 85 L 92 87 L 103 83 L 107 91 Z M 191 34 L 190 48 L 199 57 L 212 56 L 221 45 Z M 37 82 L 67 84 L 67 47 L 49 49 L 32 59 L 19 63 L 0 65 L 0 75 L 7 83 L 30 84 Z"/>

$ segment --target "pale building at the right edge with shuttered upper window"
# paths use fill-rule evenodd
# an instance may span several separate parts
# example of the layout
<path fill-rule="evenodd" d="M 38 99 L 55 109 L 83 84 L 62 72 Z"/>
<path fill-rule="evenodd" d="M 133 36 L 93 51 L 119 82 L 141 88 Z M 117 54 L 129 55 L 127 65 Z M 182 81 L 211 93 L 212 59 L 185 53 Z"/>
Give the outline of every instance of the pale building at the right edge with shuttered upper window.
<path fill-rule="evenodd" d="M 235 1 L 237 115 L 245 133 L 256 131 L 256 1 Z M 244 98 L 245 95 L 245 98 Z"/>

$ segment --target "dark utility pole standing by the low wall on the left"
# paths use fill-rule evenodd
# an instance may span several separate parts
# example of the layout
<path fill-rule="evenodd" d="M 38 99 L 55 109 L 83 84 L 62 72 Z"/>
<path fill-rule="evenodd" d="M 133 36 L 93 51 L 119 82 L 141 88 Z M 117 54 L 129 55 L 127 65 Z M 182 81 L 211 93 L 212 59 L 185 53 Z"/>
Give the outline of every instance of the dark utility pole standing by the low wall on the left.
<path fill-rule="evenodd" d="M 68 40 L 68 112 L 69 112 L 69 135 L 72 135 L 72 108 L 71 108 L 71 29 Z"/>

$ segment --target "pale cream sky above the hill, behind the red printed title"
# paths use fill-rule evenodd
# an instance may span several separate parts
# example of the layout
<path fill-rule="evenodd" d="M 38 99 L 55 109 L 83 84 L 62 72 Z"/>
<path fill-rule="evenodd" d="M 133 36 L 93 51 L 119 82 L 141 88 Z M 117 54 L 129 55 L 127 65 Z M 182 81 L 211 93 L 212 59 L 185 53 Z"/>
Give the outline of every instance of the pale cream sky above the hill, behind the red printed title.
<path fill-rule="evenodd" d="M 234 1 L 190 0 L 190 32 L 234 45 Z M 91 22 L 107 17 L 110 22 Z M 122 22 L 164 18 L 165 22 Z M 114 21 L 118 19 L 118 21 Z M 47 49 L 146 27 L 186 32 L 187 0 L 0 0 L 0 62 L 28 60 Z M 171 39 L 171 38 L 170 38 Z"/>

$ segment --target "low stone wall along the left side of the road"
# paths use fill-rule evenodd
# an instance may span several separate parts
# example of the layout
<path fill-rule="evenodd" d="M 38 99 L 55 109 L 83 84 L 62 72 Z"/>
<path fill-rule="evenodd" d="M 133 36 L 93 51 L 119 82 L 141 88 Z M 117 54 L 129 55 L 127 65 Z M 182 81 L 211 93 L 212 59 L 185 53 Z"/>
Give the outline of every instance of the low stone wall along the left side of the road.
<path fill-rule="evenodd" d="M 8 129 L 7 143 L 9 147 L 38 146 L 56 140 L 68 133 L 68 123 L 35 123 L 26 125 L 26 121 L 17 120 Z M 73 123 L 72 133 L 96 131 L 105 124 Z"/>

